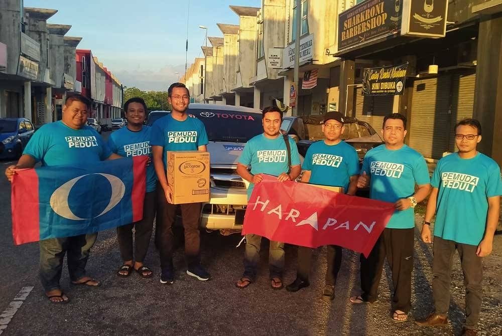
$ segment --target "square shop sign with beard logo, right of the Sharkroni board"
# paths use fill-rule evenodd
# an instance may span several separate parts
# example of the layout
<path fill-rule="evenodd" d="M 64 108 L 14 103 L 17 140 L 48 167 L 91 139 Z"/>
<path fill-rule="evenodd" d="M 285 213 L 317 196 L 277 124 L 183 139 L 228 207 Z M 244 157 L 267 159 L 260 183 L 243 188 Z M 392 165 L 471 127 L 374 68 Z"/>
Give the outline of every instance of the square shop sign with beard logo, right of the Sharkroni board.
<path fill-rule="evenodd" d="M 446 35 L 448 0 L 403 2 L 401 35 L 441 38 Z"/>

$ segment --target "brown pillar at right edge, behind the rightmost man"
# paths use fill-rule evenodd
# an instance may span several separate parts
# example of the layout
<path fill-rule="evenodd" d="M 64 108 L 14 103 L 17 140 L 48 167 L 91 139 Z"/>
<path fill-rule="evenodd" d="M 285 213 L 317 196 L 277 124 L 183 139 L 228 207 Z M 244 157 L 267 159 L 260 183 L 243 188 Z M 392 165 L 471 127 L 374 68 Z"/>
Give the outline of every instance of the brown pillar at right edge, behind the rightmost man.
<path fill-rule="evenodd" d="M 502 165 L 502 17 L 488 18 L 479 23 L 473 117 L 483 135 L 477 149 Z"/>

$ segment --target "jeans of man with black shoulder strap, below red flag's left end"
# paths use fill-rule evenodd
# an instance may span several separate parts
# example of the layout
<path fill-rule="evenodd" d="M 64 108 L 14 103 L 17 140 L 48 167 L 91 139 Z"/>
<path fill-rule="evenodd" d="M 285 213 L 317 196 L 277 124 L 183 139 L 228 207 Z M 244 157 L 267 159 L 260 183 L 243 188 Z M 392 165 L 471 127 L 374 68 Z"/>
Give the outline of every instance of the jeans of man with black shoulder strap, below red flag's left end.
<path fill-rule="evenodd" d="M 260 247 L 262 237 L 258 235 L 246 235 L 246 249 L 244 252 L 244 274 L 252 281 L 255 281 L 258 272 L 258 261 L 260 260 Z M 284 270 L 284 243 L 270 241 L 269 248 L 269 268 L 270 278 L 282 277 Z"/>

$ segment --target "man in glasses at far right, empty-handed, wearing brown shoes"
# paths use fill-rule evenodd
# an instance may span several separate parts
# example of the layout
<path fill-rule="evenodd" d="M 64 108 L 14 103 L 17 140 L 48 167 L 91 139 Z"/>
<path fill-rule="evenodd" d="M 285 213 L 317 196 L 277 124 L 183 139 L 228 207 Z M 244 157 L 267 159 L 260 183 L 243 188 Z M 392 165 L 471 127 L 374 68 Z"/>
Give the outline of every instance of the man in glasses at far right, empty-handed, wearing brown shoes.
<path fill-rule="evenodd" d="M 481 124 L 464 119 L 455 126 L 458 152 L 439 160 L 432 177 L 422 240 L 431 243 L 434 223 L 432 294 L 435 311 L 417 323 L 446 325 L 450 306 L 450 273 L 455 249 L 460 256 L 465 292 L 464 334 L 475 335 L 482 301 L 482 257 L 491 253 L 500 213 L 500 167 L 477 151 Z"/>

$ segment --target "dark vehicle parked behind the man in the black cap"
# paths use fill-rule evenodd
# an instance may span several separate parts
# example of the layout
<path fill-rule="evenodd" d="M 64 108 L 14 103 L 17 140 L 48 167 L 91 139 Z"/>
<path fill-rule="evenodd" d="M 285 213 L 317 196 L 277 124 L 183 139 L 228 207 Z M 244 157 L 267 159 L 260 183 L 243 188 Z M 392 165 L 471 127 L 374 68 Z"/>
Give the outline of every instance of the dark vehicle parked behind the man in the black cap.
<path fill-rule="evenodd" d="M 342 140 L 352 145 L 357 151 L 359 162 L 366 152 L 383 143 L 382 138 L 365 121 L 357 120 L 352 117 L 344 118 L 345 130 L 342 134 Z M 315 141 L 324 139 L 322 124 L 323 115 L 300 117 L 284 117 L 281 128 L 297 141 L 298 152 L 305 157 L 307 149 Z"/>

